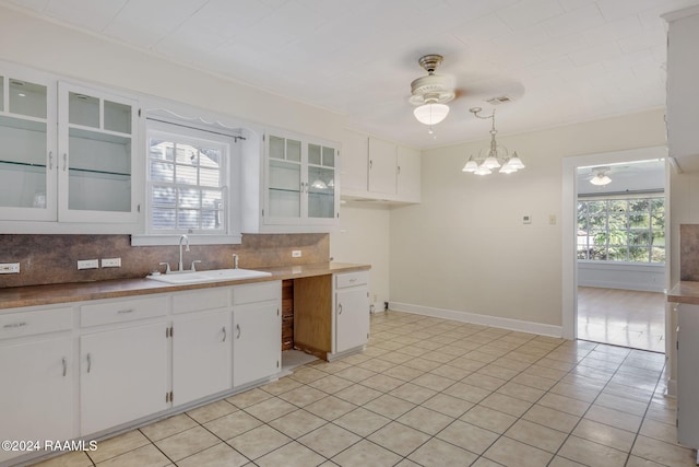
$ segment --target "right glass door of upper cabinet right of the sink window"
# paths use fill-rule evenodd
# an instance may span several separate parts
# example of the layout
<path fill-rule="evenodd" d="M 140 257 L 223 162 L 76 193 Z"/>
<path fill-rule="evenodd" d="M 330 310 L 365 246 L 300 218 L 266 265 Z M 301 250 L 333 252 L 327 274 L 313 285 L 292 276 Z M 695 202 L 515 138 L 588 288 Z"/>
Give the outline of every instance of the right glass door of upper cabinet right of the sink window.
<path fill-rule="evenodd" d="M 308 144 L 308 217 L 335 217 L 335 149 Z"/>

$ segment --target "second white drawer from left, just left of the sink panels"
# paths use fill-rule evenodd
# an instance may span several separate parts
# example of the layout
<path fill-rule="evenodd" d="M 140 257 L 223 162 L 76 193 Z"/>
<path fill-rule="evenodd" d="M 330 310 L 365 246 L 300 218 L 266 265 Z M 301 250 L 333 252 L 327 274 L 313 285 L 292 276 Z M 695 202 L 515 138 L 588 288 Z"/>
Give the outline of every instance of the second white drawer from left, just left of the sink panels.
<path fill-rule="evenodd" d="M 80 307 L 80 326 L 98 326 L 163 316 L 167 295 L 150 299 L 97 302 Z"/>

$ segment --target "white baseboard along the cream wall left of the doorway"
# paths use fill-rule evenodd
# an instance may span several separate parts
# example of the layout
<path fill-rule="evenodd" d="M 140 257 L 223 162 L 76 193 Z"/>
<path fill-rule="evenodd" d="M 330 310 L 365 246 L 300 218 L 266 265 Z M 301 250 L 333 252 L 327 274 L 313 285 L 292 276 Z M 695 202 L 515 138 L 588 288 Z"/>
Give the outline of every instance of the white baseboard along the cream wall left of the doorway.
<path fill-rule="evenodd" d="M 523 322 L 519 319 L 500 318 L 497 316 L 478 315 L 476 313 L 458 312 L 455 310 L 434 308 L 431 306 L 412 305 L 410 303 L 390 302 L 390 310 L 433 316 L 461 323 L 472 323 L 483 326 L 517 330 L 520 332 L 537 334 L 541 336 L 561 337 L 562 327 L 542 323 Z"/>

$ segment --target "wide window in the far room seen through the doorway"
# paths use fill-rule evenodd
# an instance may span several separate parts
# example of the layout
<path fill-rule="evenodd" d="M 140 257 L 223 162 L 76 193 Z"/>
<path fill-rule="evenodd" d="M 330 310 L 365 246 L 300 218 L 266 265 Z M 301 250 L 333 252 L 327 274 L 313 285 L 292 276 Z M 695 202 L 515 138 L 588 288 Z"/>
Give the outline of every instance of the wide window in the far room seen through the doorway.
<path fill-rule="evenodd" d="M 579 199 L 578 259 L 665 262 L 664 198 Z"/>

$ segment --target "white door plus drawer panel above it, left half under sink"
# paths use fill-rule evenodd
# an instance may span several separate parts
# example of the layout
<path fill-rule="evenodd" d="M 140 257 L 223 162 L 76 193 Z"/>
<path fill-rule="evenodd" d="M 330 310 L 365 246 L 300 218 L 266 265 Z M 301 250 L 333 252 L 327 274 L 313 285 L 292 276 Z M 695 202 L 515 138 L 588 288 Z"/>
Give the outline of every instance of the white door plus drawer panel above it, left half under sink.
<path fill-rule="evenodd" d="M 174 295 L 174 406 L 228 390 L 233 386 L 229 294 L 230 288 L 217 288 Z"/>

